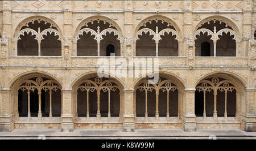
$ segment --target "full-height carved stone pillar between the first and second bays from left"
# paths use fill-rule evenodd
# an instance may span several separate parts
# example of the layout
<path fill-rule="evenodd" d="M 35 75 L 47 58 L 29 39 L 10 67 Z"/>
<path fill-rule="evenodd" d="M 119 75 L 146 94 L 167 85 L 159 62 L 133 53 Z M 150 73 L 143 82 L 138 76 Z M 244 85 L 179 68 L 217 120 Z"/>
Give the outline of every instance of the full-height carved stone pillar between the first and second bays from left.
<path fill-rule="evenodd" d="M 63 89 L 61 90 L 62 97 L 62 122 L 61 122 L 61 131 L 71 132 L 74 129 L 74 100 L 72 89 L 69 89 L 69 83 L 71 83 L 69 79 L 69 70 L 67 66 L 69 65 L 69 61 L 71 60 L 71 53 L 73 51 L 72 47 L 72 1 L 64 1 L 64 40 L 63 40 L 63 48 L 62 56 L 64 57 L 65 70 L 63 76 Z"/>

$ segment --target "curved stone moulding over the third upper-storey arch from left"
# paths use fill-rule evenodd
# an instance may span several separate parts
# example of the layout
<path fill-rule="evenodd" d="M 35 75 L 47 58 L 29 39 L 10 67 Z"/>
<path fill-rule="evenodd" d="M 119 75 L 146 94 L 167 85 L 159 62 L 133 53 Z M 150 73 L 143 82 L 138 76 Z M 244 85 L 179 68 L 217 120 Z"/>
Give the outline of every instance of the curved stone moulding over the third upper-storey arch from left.
<path fill-rule="evenodd" d="M 145 19 L 143 19 L 138 25 L 137 27 L 135 28 L 135 31 L 134 31 L 134 36 L 136 36 L 137 32 L 139 31 L 139 28 L 144 24 L 146 23 L 148 20 L 154 20 L 154 19 L 158 19 L 158 20 L 164 20 L 166 21 L 167 23 L 170 23 L 176 30 L 176 32 L 178 33 L 178 37 L 179 39 L 182 39 L 182 33 L 181 33 L 181 30 L 179 28 L 179 26 L 175 23 L 174 20 L 168 18 L 167 16 L 163 16 L 163 15 L 152 15 L 152 16 L 149 16 Z M 134 40 L 136 39 L 136 37 L 134 37 Z"/>

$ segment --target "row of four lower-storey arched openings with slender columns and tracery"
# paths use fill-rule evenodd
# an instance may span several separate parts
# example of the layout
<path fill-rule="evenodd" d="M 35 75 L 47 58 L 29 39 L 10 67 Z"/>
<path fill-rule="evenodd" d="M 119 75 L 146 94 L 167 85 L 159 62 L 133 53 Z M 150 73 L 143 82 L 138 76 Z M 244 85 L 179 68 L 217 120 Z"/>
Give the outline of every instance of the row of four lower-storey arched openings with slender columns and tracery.
<path fill-rule="evenodd" d="M 154 83 L 152 83 L 154 81 Z M 88 128 L 90 124 L 112 124 L 120 128 L 124 116 L 123 85 L 113 77 L 88 74 L 80 77 L 72 87 L 73 116 L 76 128 Z M 183 116 L 185 87 L 173 75 L 159 74 L 152 79 L 144 77 L 134 84 L 133 114 L 135 127 L 179 128 Z M 195 115 L 199 127 L 205 122 L 235 124 L 245 104 L 245 88 L 236 77 L 213 74 L 204 77 L 196 85 Z M 58 81 L 44 74 L 30 74 L 18 78 L 11 88 L 14 103 L 15 125 L 23 123 L 61 123 L 63 114 L 63 90 Z M 243 107 L 242 107 L 243 106 Z M 154 123 L 156 125 L 154 125 Z M 53 127 L 59 127 L 55 125 Z M 221 126 L 222 127 L 222 126 Z"/>

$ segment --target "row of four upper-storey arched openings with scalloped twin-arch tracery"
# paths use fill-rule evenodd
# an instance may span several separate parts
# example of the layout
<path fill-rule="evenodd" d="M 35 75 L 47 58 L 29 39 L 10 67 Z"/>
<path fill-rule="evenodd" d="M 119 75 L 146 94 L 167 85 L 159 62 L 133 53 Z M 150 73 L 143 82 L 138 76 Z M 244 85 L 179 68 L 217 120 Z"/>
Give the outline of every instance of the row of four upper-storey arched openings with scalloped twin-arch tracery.
<path fill-rule="evenodd" d="M 229 21 L 206 19 L 197 27 L 194 37 L 196 56 L 236 57 L 240 37 L 237 31 L 235 32 L 226 22 Z M 72 55 L 110 56 L 112 53 L 115 56 L 122 56 L 122 34 L 119 27 L 116 28 L 115 25 L 112 20 L 97 19 L 95 16 L 82 21 L 75 32 Z M 27 21 L 18 34 L 15 34 L 15 53 L 39 56 L 63 55 L 61 52 L 63 36 L 59 32 L 60 29 L 56 27 L 56 24 L 42 17 Z M 151 17 L 142 21 L 134 35 L 135 55 L 141 57 L 179 56 L 179 51 L 182 51 L 183 47 L 182 37 L 175 27 L 177 28 L 177 25 L 168 18 Z M 51 46 L 51 51 L 49 51 L 49 46 Z"/>

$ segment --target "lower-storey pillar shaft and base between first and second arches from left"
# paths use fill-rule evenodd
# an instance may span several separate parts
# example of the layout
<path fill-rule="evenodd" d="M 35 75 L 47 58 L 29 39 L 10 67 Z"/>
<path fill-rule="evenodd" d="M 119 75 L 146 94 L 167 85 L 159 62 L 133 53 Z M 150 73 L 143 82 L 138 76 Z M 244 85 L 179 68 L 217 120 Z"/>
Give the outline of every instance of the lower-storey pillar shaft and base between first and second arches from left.
<path fill-rule="evenodd" d="M 62 99 L 63 99 L 63 112 L 62 112 L 62 122 L 61 131 L 71 132 L 74 130 L 73 125 L 73 97 L 71 89 L 62 89 Z"/>

